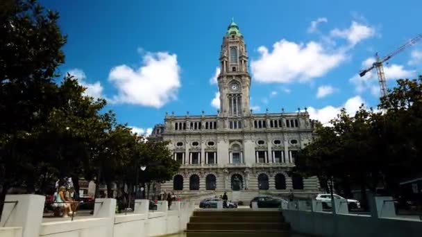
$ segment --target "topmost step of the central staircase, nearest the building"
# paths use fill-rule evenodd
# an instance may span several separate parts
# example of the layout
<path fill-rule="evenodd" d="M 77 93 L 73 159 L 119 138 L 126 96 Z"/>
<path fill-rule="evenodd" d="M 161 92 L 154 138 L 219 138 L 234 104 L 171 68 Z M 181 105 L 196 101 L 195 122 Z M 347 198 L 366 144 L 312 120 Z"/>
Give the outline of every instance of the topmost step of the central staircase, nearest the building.
<path fill-rule="evenodd" d="M 220 217 L 236 217 L 236 216 L 250 216 L 250 217 L 279 217 L 282 216 L 281 211 L 251 211 L 251 209 L 246 209 L 246 211 L 240 211 L 240 209 L 234 209 L 230 211 L 194 211 L 193 216 L 220 216 Z"/>

